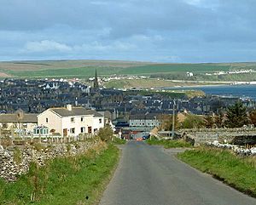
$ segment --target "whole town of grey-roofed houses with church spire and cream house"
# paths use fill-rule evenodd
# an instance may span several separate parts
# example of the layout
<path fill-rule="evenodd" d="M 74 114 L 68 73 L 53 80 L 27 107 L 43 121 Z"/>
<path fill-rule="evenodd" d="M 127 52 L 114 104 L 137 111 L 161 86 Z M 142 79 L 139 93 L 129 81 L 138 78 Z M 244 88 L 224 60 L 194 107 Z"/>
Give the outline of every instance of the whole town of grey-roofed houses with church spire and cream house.
<path fill-rule="evenodd" d="M 133 133 L 149 133 L 152 128 L 159 127 L 163 117 L 172 116 L 173 111 L 179 119 L 188 113 L 200 116 L 218 115 L 240 100 L 232 96 L 205 95 L 189 98 L 183 94 L 172 96 L 172 93 L 168 95 L 165 92 L 142 93 L 142 89 L 136 88 L 126 91 L 100 88 L 101 80 L 97 74 L 91 81 L 92 86 L 79 83 L 78 79 L 2 80 L 2 134 L 79 136 L 94 134 L 107 122 L 113 128 L 115 126 L 117 132 L 121 130 L 123 137 L 129 140 L 136 137 Z M 241 102 L 248 110 L 255 108 L 254 100 L 242 99 Z M 89 116 L 93 120 L 86 118 Z M 67 123 L 58 120 L 58 117 L 71 120 Z M 81 125 L 75 122 L 81 122 Z M 45 131 L 40 131 L 40 128 Z"/>

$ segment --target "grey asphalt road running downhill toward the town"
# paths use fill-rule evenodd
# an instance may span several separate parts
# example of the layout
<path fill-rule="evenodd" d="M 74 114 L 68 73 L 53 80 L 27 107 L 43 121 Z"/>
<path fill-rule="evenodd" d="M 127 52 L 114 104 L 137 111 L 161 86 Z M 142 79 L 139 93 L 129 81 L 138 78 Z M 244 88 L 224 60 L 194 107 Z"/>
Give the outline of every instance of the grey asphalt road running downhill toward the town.
<path fill-rule="evenodd" d="M 255 205 L 256 199 L 174 157 L 176 149 L 129 142 L 101 205 Z"/>

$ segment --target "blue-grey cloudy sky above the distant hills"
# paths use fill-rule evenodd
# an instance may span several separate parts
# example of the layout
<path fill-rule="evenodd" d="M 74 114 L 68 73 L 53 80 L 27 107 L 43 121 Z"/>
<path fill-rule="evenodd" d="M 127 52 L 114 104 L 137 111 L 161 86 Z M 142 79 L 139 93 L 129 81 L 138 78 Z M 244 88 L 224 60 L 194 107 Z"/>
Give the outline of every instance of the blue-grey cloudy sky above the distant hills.
<path fill-rule="evenodd" d="M 0 3 L 0 60 L 256 61 L 255 0 Z"/>

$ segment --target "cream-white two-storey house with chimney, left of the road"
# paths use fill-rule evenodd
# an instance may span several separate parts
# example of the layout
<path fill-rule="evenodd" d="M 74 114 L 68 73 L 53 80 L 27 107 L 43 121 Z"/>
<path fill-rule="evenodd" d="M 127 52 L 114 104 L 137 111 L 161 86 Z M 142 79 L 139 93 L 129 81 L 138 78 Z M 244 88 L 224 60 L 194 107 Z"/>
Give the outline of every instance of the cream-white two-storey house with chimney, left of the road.
<path fill-rule="evenodd" d="M 38 125 L 49 128 L 49 133 L 61 136 L 78 136 L 79 134 L 94 134 L 104 127 L 104 117 L 93 110 L 84 107 L 49 108 L 38 115 Z"/>

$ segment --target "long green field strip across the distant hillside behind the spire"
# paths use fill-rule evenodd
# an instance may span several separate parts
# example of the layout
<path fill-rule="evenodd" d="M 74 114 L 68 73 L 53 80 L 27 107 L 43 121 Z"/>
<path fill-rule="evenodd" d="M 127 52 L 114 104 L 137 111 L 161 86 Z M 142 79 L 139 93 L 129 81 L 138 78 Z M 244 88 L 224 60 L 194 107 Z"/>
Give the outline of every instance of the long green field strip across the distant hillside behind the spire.
<path fill-rule="evenodd" d="M 172 73 L 177 71 L 228 71 L 230 66 L 217 66 L 205 64 L 189 65 L 143 65 L 131 67 L 77 67 L 77 68 L 51 68 L 36 71 L 4 71 L 14 77 L 93 77 L 97 70 L 100 76 L 117 75 L 152 75 Z"/>

